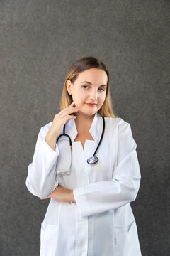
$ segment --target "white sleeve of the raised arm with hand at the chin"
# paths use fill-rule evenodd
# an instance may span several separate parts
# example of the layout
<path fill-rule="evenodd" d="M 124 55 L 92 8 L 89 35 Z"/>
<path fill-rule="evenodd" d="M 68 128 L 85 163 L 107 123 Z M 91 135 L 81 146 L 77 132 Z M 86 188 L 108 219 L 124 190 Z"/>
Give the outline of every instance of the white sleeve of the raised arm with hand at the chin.
<path fill-rule="evenodd" d="M 35 144 L 33 161 L 28 166 L 26 186 L 34 196 L 47 198 L 58 186 L 55 166 L 60 152 L 56 144 L 55 151 L 45 141 L 47 129 L 41 127 Z"/>

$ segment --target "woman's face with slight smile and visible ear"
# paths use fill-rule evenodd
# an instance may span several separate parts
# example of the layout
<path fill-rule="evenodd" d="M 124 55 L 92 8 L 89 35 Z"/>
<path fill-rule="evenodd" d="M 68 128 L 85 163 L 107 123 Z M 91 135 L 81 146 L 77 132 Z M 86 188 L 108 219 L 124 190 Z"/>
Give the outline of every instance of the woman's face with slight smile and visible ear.
<path fill-rule="evenodd" d="M 106 98 L 108 77 L 104 70 L 91 68 L 79 73 L 74 84 L 67 80 L 67 90 L 79 114 L 93 115 L 103 105 Z M 94 105 L 88 105 L 94 103 Z"/>

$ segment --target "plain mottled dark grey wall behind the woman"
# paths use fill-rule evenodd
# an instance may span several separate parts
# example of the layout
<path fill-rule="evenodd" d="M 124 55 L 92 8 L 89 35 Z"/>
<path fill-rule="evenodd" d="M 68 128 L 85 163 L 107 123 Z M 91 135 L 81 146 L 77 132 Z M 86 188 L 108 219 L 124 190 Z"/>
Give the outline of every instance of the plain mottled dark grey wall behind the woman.
<path fill-rule="evenodd" d="M 115 113 L 137 142 L 142 180 L 131 206 L 142 256 L 170 255 L 170 2 L 1 0 L 0 18 L 0 255 L 39 255 L 49 199 L 27 190 L 28 164 L 69 66 L 91 55 L 108 65 Z"/>

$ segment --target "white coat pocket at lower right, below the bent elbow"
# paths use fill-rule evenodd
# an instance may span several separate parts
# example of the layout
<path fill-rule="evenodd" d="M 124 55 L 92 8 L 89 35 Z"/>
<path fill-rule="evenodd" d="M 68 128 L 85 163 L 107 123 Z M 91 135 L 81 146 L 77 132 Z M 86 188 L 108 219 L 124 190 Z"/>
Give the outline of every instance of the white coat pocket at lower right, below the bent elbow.
<path fill-rule="evenodd" d="M 114 226 L 114 247 L 115 256 L 129 255 L 130 238 L 132 236 L 132 227 L 135 224 L 135 220 L 132 220 L 128 225 Z M 132 242 L 132 240 L 131 240 Z"/>

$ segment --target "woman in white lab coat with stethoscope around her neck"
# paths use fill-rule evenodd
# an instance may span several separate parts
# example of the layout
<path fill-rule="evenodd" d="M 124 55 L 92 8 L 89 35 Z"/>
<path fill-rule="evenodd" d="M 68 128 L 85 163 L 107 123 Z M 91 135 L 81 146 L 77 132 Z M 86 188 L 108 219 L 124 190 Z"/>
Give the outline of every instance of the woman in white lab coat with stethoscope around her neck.
<path fill-rule="evenodd" d="M 59 137 L 64 132 L 72 151 L 69 137 Z M 141 255 L 130 206 L 140 188 L 136 147 L 130 124 L 113 113 L 106 65 L 93 57 L 77 60 L 60 112 L 41 127 L 28 166 L 30 193 L 50 198 L 41 256 Z"/>

